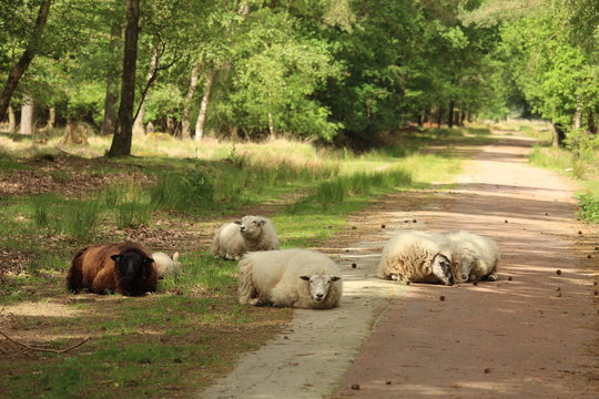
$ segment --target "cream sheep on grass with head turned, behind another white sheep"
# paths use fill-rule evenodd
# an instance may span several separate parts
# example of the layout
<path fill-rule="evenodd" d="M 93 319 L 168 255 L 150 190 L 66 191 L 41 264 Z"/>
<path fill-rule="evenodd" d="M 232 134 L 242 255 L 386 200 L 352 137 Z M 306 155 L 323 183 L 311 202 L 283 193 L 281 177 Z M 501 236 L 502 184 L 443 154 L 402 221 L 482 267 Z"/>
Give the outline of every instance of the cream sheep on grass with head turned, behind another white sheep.
<path fill-rule="evenodd" d="M 278 237 L 270 219 L 244 216 L 241 221 L 225 223 L 215 232 L 212 255 L 215 258 L 240 260 L 246 252 L 278 249 Z"/>

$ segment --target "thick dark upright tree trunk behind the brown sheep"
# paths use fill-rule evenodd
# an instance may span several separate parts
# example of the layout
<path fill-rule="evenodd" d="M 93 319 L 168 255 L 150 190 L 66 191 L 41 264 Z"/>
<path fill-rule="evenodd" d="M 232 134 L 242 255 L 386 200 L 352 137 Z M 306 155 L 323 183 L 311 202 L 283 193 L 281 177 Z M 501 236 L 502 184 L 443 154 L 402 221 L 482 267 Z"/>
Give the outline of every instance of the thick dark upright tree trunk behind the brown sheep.
<path fill-rule="evenodd" d="M 123 53 L 123 78 L 121 104 L 108 156 L 131 155 L 133 129 L 133 105 L 135 102 L 135 66 L 138 63 L 138 37 L 140 0 L 128 0 L 125 43 Z"/>

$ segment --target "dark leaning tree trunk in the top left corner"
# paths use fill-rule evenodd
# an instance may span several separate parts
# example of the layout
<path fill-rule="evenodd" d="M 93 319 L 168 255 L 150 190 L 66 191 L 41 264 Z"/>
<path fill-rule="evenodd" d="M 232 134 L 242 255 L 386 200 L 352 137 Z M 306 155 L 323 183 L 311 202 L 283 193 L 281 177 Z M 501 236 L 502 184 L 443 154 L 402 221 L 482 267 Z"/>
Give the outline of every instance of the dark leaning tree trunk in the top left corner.
<path fill-rule="evenodd" d="M 45 27 L 45 21 L 48 20 L 48 13 L 50 12 L 51 2 L 52 0 L 42 0 L 40 4 L 40 11 L 38 12 L 38 19 L 35 20 L 35 28 L 33 29 L 33 34 L 31 35 L 31 39 L 27 44 L 26 51 L 23 52 L 17 64 L 12 66 L 12 70 L 8 75 L 4 89 L 0 94 L 0 121 L 6 117 L 7 109 L 10 105 L 10 100 L 12 99 L 12 94 L 14 93 L 14 90 L 19 84 L 19 80 L 29 68 L 29 64 L 31 63 L 33 57 L 35 57 L 35 53 L 40 48 L 41 37 L 43 28 Z"/>

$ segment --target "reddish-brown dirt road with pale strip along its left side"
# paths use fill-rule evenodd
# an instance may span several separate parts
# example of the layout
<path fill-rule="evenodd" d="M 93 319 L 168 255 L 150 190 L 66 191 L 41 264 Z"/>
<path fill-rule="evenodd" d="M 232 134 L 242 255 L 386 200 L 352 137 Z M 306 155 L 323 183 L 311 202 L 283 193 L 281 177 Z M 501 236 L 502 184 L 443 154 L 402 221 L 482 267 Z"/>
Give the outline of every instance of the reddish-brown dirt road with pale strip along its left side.
<path fill-rule="evenodd" d="M 598 397 L 599 242 L 573 221 L 572 187 L 526 164 L 529 149 L 514 137 L 469 149 L 476 160 L 456 190 L 398 193 L 357 217 L 368 233 L 333 252 L 345 270 L 342 307 L 298 310 L 286 334 L 199 397 Z M 406 227 L 493 237 L 499 280 L 377 279 L 380 247 Z"/>

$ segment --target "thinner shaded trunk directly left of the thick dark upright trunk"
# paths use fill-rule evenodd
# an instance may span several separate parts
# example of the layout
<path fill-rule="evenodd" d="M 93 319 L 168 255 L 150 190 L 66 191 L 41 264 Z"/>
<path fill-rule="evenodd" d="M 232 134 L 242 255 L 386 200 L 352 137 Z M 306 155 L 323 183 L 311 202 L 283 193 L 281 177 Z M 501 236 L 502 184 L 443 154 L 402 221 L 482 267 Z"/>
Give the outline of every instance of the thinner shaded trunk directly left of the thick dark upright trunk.
<path fill-rule="evenodd" d="M 121 40 L 121 21 L 116 21 L 110 29 L 109 54 L 110 65 L 106 73 L 106 98 L 104 99 L 104 121 L 102 122 L 102 135 L 114 133 L 116 125 L 116 103 L 119 101 L 119 68 L 112 62 Z"/>

